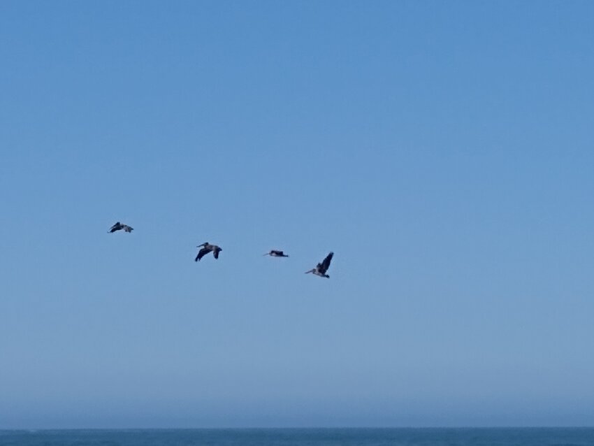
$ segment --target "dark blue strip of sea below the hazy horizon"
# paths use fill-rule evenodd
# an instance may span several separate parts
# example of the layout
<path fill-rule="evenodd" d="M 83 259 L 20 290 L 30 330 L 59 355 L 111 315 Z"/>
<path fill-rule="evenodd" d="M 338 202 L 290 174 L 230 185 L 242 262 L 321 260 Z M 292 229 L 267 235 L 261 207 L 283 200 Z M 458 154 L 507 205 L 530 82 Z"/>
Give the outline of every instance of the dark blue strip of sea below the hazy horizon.
<path fill-rule="evenodd" d="M 0 446 L 594 446 L 594 429 L 0 431 Z"/>

